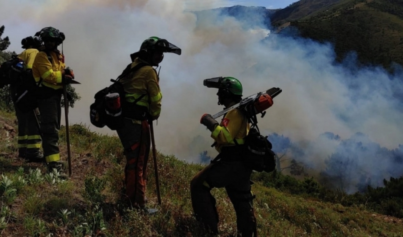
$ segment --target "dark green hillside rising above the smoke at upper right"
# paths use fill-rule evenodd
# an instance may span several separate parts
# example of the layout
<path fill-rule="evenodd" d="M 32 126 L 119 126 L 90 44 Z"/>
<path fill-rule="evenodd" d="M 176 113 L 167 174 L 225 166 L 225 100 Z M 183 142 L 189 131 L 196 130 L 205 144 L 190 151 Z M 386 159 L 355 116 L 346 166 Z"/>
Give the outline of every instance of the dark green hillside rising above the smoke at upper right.
<path fill-rule="evenodd" d="M 303 37 L 334 43 L 337 61 L 356 51 L 359 62 L 391 69 L 391 62 L 403 65 L 403 14 L 400 12 L 403 3 L 396 0 L 341 0 L 293 19 L 291 25 Z"/>

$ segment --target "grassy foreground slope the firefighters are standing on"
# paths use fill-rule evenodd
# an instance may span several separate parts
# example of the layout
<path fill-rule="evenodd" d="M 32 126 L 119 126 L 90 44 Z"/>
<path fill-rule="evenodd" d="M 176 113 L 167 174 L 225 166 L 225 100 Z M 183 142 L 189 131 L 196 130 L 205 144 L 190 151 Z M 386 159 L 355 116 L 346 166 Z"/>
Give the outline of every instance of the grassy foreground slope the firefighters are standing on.
<path fill-rule="evenodd" d="M 0 112 L 1 127 L 15 126 L 13 120 L 13 115 Z M 101 136 L 81 125 L 72 126 L 73 176 L 61 182 L 43 175 L 41 165 L 14 159 L 17 138 L 10 131 L 7 138 L 7 130 L 0 130 L 1 236 L 208 236 L 192 216 L 189 193 L 189 181 L 202 165 L 158 153 L 161 211 L 156 216 L 142 216 L 119 201 L 125 161 L 118 138 Z M 62 155 L 66 150 L 64 135 L 61 130 Z M 150 159 L 150 207 L 156 206 L 152 167 Z M 42 175 L 32 170 L 30 173 L 30 169 L 39 169 Z M 15 192 L 4 192 L 5 177 L 13 181 L 8 190 L 15 188 Z M 368 212 L 365 206 L 347 208 L 304 199 L 260 183 L 252 189 L 257 196 L 260 236 L 403 236 L 401 220 Z M 224 190 L 215 189 L 213 194 L 220 214 L 220 236 L 235 236 L 231 202 Z M 61 210 L 67 211 L 63 214 Z"/>

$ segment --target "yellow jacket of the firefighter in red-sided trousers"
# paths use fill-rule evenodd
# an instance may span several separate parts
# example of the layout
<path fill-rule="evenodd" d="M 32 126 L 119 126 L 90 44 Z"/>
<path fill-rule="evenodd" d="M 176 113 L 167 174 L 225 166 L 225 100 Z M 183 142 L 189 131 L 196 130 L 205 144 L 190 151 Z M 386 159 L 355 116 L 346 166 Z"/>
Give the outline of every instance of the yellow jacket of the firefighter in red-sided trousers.
<path fill-rule="evenodd" d="M 139 63 L 146 62 L 136 58 L 131 64 L 131 68 Z M 133 103 L 135 99 L 145 95 L 136 104 L 147 107 L 151 117 L 158 119 L 161 113 L 162 94 L 159 85 L 160 78 L 158 78 L 157 71 L 152 66 L 143 66 L 119 81 L 125 89 L 127 102 Z"/>

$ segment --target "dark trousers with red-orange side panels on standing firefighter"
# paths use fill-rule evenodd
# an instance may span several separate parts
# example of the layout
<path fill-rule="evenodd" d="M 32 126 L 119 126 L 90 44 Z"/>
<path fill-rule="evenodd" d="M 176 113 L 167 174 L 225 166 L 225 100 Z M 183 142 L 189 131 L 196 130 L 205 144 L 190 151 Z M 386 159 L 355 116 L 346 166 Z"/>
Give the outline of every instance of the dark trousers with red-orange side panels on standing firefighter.
<path fill-rule="evenodd" d="M 145 205 L 147 162 L 150 153 L 150 127 L 147 120 L 141 124 L 124 119 L 123 128 L 116 130 L 125 149 L 126 196 L 132 205 Z"/>

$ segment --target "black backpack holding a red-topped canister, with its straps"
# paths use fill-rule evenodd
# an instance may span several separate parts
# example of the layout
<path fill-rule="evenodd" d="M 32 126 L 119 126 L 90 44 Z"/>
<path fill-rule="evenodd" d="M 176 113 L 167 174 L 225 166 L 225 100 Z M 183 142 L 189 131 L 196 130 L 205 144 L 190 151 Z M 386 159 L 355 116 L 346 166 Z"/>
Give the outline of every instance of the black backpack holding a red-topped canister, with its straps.
<path fill-rule="evenodd" d="M 125 100 L 125 89 L 123 84 L 119 82 L 120 79 L 127 76 L 129 73 L 137 71 L 139 68 L 143 66 L 147 66 L 148 64 L 140 63 L 137 64 L 134 68 L 131 68 L 131 64 L 127 65 L 125 70 L 123 70 L 122 74 L 116 78 L 116 80 L 110 79 L 112 85 L 106 87 L 100 91 L 98 91 L 94 95 L 95 102 L 89 106 L 89 119 L 91 124 L 98 127 L 103 128 L 105 125 L 110 130 L 117 130 L 123 127 L 123 118 L 127 117 L 128 111 L 133 110 L 129 109 L 126 105 Z M 141 100 L 145 95 L 137 98 L 130 107 L 140 107 L 136 103 Z M 125 109 L 127 111 L 125 111 Z M 138 108 L 138 111 L 141 109 Z M 131 118 L 137 120 L 144 120 L 146 118 L 146 113 L 131 113 L 129 116 Z"/>

